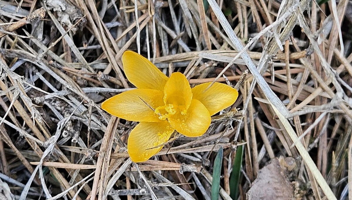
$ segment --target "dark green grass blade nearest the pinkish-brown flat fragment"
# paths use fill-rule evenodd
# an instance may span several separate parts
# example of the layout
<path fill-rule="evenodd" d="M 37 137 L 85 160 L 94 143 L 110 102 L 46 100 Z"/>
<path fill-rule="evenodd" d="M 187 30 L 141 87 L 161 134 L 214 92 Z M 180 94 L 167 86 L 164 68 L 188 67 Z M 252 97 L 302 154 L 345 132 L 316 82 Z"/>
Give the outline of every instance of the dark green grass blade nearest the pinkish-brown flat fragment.
<path fill-rule="evenodd" d="M 243 145 L 237 146 L 235 159 L 233 161 L 232 172 L 230 175 L 230 197 L 231 199 L 238 198 L 238 186 L 241 175 Z"/>

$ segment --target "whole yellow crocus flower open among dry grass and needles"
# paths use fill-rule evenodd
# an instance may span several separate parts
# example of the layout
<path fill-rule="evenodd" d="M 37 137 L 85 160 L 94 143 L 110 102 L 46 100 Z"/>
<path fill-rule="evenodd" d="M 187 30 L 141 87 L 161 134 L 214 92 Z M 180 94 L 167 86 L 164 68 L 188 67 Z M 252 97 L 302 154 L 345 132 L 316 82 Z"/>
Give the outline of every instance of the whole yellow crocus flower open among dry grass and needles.
<path fill-rule="evenodd" d="M 140 122 L 127 141 L 133 162 L 157 154 L 174 130 L 188 137 L 203 135 L 209 128 L 210 116 L 232 105 L 238 97 L 237 90 L 226 84 L 214 83 L 207 89 L 211 83 L 203 83 L 191 88 L 180 72 L 168 78 L 133 51 L 122 55 L 122 63 L 127 79 L 137 89 L 107 99 L 101 108 L 122 119 Z"/>

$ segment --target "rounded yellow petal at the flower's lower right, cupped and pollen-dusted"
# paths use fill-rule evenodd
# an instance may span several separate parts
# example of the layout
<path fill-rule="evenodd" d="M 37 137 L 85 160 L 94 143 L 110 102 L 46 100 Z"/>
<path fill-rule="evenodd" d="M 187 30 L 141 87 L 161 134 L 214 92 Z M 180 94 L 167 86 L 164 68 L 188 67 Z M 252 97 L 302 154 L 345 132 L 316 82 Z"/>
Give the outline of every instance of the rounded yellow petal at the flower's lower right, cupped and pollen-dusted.
<path fill-rule="evenodd" d="M 211 117 L 208 109 L 200 101 L 192 99 L 186 115 L 179 114 L 169 117 L 168 120 L 172 127 L 182 135 L 198 137 L 209 128 Z"/>

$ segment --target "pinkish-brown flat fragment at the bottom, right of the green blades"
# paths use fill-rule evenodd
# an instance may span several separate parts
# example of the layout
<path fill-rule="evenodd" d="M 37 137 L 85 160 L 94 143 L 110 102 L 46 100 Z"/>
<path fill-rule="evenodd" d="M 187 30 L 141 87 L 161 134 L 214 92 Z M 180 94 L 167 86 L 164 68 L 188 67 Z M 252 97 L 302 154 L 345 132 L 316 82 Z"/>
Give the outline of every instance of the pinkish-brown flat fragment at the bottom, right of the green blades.
<path fill-rule="evenodd" d="M 246 194 L 247 200 L 294 199 L 293 187 L 277 159 L 260 169 L 258 178 Z"/>

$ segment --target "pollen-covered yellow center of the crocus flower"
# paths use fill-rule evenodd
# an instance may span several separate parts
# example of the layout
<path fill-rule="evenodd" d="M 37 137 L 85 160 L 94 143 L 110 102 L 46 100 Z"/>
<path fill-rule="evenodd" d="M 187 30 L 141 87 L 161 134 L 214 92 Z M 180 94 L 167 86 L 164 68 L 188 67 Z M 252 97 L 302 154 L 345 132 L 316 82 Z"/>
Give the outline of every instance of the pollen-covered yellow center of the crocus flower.
<path fill-rule="evenodd" d="M 155 109 L 155 114 L 159 115 L 160 120 L 166 120 L 168 117 L 180 113 L 187 114 L 184 98 L 171 96 L 166 100 L 166 104 Z"/>

